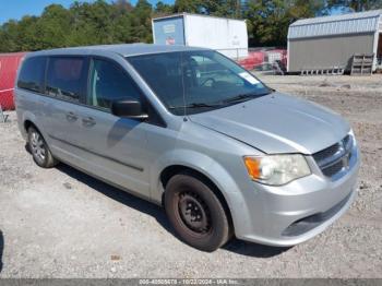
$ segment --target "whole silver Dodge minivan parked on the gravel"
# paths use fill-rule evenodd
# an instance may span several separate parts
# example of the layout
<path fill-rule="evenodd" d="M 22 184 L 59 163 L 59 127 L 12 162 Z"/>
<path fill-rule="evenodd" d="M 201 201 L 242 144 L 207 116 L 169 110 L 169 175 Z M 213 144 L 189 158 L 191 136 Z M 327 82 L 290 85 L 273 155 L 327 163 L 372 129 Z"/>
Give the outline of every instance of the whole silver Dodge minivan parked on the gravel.
<path fill-rule="evenodd" d="M 112 45 L 31 52 L 20 130 L 36 164 L 69 164 L 164 205 L 184 242 L 289 247 L 356 195 L 359 150 L 333 111 L 280 94 L 203 48 Z"/>

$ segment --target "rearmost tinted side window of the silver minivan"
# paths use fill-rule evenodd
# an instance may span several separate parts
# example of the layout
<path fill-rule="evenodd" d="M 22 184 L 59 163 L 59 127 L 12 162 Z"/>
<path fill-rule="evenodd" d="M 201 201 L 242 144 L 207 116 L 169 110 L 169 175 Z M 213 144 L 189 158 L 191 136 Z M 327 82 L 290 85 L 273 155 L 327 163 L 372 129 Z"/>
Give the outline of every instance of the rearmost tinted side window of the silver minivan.
<path fill-rule="evenodd" d="M 19 74 L 17 87 L 43 93 L 46 61 L 45 57 L 26 59 Z"/>

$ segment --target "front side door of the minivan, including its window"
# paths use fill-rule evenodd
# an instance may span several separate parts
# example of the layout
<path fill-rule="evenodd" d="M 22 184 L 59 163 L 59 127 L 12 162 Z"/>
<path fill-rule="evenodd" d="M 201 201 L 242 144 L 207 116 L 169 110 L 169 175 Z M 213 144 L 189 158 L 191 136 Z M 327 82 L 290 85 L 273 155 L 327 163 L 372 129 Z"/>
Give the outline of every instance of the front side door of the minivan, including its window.
<path fill-rule="evenodd" d="M 91 61 L 87 90 L 85 105 L 79 106 L 79 140 L 86 169 L 141 196 L 150 196 L 150 162 L 144 156 L 147 123 L 110 112 L 114 100 L 142 100 L 141 91 L 117 62 L 102 58 Z"/>

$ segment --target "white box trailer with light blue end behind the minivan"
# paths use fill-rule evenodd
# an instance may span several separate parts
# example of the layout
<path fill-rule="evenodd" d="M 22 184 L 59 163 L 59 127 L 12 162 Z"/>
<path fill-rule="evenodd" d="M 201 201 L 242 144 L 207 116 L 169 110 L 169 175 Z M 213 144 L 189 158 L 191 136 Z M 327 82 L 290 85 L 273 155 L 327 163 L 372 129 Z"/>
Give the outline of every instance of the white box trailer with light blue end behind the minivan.
<path fill-rule="evenodd" d="M 153 19 L 152 25 L 154 44 L 211 48 L 234 59 L 248 56 L 243 20 L 182 13 Z"/>

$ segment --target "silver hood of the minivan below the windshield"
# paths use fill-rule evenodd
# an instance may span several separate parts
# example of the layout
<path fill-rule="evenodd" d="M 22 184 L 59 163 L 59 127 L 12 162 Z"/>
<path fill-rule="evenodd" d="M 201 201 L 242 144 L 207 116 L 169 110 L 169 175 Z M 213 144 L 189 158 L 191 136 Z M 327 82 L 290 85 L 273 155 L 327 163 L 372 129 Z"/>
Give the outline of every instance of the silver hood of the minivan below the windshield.
<path fill-rule="evenodd" d="M 350 129 L 339 115 L 280 93 L 189 117 L 268 154 L 313 154 L 341 141 Z"/>

